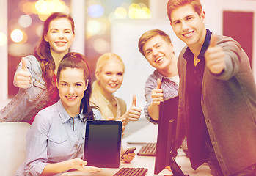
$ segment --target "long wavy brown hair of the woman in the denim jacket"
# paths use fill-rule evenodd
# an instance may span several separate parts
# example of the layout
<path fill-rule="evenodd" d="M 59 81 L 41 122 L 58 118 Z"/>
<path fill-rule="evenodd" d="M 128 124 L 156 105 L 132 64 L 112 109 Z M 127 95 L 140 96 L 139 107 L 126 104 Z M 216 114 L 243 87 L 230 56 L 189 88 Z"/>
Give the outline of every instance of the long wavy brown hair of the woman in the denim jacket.
<path fill-rule="evenodd" d="M 72 32 L 73 34 L 75 34 L 75 23 L 73 21 L 73 18 L 71 18 L 70 15 L 67 15 L 63 12 L 54 12 L 45 20 L 45 23 L 43 23 L 43 34 L 40 38 L 40 43 L 37 46 L 37 48 L 34 49 L 34 56 L 41 63 L 42 77 L 45 81 L 48 92 L 53 92 L 54 88 L 56 87 L 53 79 L 55 62 L 54 58 L 51 56 L 50 45 L 48 42 L 45 41 L 44 36 L 47 34 L 49 30 L 49 25 L 51 21 L 54 21 L 59 18 L 67 18 L 67 20 L 70 21 L 70 24 L 72 26 Z"/>

